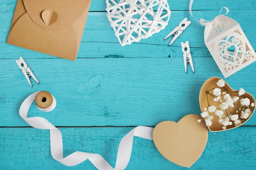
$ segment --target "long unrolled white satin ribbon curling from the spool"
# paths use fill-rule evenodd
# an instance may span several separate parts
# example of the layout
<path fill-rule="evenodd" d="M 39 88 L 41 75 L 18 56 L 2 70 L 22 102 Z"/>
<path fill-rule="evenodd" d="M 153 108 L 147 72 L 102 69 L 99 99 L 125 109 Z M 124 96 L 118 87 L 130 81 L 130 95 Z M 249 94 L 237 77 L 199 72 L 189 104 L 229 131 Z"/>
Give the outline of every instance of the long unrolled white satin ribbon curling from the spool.
<path fill-rule="evenodd" d="M 54 125 L 52 125 L 48 120 L 42 117 L 30 117 L 27 118 L 27 113 L 32 102 L 35 100 L 35 92 L 28 96 L 22 105 L 20 106 L 20 117 L 24 119 L 30 126 L 37 129 L 49 129 L 50 130 L 50 146 L 52 157 L 63 163 L 66 166 L 75 166 L 82 163 L 85 160 L 90 160 L 91 163 L 99 170 L 124 170 L 130 161 L 130 155 L 132 152 L 133 137 L 142 137 L 145 139 L 153 140 L 153 128 L 147 126 L 137 126 L 127 135 L 125 135 L 119 144 L 117 151 L 117 160 L 115 168 L 110 166 L 110 164 L 99 154 L 85 153 L 76 151 L 67 157 L 63 158 L 63 142 L 61 131 L 59 131 Z M 51 107 L 51 109 L 54 109 Z M 48 109 L 48 111 L 50 111 Z"/>

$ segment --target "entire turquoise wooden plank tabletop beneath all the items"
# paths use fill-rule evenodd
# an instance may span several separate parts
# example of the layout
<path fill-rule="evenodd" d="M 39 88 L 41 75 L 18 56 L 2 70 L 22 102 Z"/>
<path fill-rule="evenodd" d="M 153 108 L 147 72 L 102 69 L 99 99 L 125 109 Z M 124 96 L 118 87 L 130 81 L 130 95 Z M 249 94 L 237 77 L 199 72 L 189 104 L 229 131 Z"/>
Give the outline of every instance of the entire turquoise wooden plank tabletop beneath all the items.
<path fill-rule="evenodd" d="M 200 114 L 199 91 L 208 78 L 224 78 L 204 44 L 204 26 L 189 14 L 189 0 L 168 0 L 171 18 L 159 33 L 121 47 L 106 17 L 106 2 L 92 0 L 76 61 L 7 44 L 16 0 L 0 1 L 0 169 L 96 169 L 90 161 L 67 167 L 50 153 L 49 131 L 29 126 L 19 116 L 33 92 L 48 91 L 57 101 L 51 112 L 33 104 L 28 116 L 44 117 L 63 135 L 64 156 L 98 153 L 115 167 L 120 140 L 135 126 Z M 222 7 L 256 48 L 254 0 L 195 0 L 193 15 L 211 20 Z M 187 17 L 192 23 L 168 46 L 164 37 Z M 189 41 L 195 72 L 184 63 L 180 42 Z M 40 82 L 32 87 L 15 60 L 22 56 Z M 256 63 L 224 79 L 233 89 L 256 96 Z M 211 133 L 202 156 L 190 169 L 256 169 L 256 116 L 243 126 Z M 128 170 L 187 169 L 166 160 L 153 141 L 134 138 Z"/>

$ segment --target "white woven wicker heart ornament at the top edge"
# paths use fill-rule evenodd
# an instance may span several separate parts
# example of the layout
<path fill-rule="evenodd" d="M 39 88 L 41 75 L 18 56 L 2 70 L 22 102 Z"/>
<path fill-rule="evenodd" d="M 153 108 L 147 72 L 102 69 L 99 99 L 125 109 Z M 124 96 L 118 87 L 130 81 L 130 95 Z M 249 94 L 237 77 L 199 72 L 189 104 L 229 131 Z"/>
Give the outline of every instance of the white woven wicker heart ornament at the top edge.
<path fill-rule="evenodd" d="M 158 33 L 168 24 L 167 0 L 106 0 L 110 25 L 121 46 Z"/>

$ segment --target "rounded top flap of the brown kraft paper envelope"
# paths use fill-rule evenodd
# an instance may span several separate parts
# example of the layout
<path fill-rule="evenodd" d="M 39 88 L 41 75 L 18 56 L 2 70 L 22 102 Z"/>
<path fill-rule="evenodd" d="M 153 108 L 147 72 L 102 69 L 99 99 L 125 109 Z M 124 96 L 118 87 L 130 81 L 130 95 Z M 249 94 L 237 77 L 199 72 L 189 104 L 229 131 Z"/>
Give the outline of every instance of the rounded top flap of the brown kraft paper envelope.
<path fill-rule="evenodd" d="M 29 17 L 47 29 L 61 29 L 79 19 L 90 5 L 90 0 L 23 0 Z M 45 10 L 54 12 L 54 22 L 47 26 L 42 19 Z M 52 14 L 51 14 L 52 15 Z"/>

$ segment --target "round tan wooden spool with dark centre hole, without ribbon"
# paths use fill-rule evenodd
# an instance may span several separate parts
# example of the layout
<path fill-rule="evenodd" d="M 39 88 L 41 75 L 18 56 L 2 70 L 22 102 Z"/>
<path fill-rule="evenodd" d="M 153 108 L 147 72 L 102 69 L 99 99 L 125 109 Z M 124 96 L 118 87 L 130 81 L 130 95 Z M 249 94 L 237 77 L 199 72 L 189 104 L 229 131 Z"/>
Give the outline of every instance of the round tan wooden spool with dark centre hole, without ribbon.
<path fill-rule="evenodd" d="M 42 109 L 49 108 L 52 105 L 53 98 L 49 92 L 42 91 L 36 95 L 36 105 Z"/>

